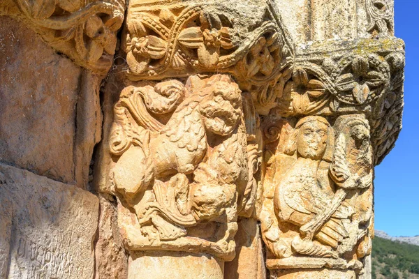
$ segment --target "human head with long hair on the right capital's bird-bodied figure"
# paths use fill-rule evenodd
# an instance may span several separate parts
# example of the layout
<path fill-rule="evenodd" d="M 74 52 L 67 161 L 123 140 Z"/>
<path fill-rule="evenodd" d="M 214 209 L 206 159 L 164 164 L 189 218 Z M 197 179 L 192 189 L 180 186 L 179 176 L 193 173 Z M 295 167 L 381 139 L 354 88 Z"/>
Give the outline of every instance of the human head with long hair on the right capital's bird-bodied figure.
<path fill-rule="evenodd" d="M 332 128 L 326 119 L 321 116 L 306 116 L 295 126 L 288 153 L 297 151 L 302 158 L 327 160 L 333 137 Z"/>

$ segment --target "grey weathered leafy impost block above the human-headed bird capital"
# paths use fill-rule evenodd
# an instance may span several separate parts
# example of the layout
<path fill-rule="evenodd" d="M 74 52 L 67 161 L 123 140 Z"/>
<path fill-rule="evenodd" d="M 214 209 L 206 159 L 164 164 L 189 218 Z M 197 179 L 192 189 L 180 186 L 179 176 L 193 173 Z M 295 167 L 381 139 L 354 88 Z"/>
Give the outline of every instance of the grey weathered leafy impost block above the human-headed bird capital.
<path fill-rule="evenodd" d="M 302 45 L 278 111 L 281 116 L 365 112 L 377 165 L 402 128 L 404 45 L 390 38 L 345 44 Z"/>

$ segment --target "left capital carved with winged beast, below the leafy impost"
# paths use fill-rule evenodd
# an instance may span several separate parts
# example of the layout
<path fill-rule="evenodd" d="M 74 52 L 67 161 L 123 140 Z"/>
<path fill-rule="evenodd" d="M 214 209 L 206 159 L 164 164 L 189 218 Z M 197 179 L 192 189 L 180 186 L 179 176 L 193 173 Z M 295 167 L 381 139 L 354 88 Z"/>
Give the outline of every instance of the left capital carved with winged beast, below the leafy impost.
<path fill-rule="evenodd" d="M 253 209 L 260 161 L 258 146 L 247 144 L 245 102 L 228 75 L 124 89 L 110 135 L 111 176 L 137 218 L 121 222 L 131 250 L 234 256 L 237 216 Z"/>

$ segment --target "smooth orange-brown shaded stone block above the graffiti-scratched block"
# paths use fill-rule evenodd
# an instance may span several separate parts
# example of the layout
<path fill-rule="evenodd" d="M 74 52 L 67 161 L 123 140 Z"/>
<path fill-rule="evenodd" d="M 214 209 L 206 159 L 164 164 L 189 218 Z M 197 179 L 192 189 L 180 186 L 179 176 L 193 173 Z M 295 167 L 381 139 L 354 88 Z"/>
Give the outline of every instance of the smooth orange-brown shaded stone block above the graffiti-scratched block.
<path fill-rule="evenodd" d="M 72 182 L 81 68 L 0 17 L 0 160 Z"/>

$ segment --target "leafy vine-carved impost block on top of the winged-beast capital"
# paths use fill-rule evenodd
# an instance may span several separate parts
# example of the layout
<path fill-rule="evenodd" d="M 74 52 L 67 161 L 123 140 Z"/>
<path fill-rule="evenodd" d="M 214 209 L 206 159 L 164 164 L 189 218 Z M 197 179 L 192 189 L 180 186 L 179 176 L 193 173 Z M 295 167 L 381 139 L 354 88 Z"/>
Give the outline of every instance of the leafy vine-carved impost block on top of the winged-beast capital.
<path fill-rule="evenodd" d="M 131 80 L 229 73 L 267 114 L 291 75 L 293 45 L 271 1 L 133 1 L 127 25 Z"/>

